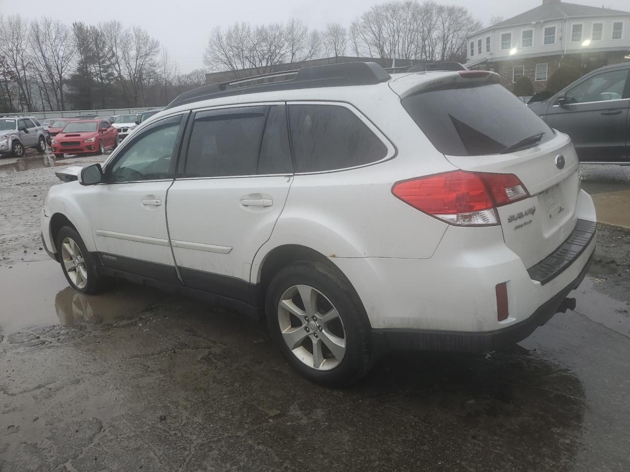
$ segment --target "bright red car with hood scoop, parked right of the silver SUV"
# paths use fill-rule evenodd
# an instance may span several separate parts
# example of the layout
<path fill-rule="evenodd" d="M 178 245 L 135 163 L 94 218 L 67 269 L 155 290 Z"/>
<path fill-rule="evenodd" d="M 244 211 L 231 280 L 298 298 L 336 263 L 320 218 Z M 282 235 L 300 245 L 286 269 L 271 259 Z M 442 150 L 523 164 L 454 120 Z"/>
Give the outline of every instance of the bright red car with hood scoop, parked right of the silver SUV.
<path fill-rule="evenodd" d="M 107 121 L 71 121 L 52 139 L 55 157 L 64 154 L 103 154 L 118 145 L 118 130 Z"/>

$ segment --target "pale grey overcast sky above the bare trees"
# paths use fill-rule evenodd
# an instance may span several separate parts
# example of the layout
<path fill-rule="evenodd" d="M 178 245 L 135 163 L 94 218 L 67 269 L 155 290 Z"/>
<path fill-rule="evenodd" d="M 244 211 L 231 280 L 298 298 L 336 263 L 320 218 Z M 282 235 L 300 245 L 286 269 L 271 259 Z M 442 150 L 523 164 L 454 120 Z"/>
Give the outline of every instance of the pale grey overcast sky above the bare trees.
<path fill-rule="evenodd" d="M 169 49 L 181 72 L 203 67 L 202 55 L 209 31 L 216 25 L 234 21 L 268 23 L 285 21 L 295 16 L 313 28 L 350 21 L 374 4 L 373 0 L 0 0 L 0 13 L 20 13 L 27 18 L 50 16 L 67 23 L 85 21 L 99 23 L 120 20 L 125 25 L 140 25 Z M 438 3 L 440 0 L 438 0 Z M 452 0 L 444 3 L 465 6 L 487 25 L 491 16 L 510 18 L 534 8 L 542 0 Z M 602 6 L 598 0 L 575 0 L 575 3 Z M 628 0 L 607 0 L 607 8 L 630 11 Z M 349 53 L 350 51 L 348 51 Z"/>

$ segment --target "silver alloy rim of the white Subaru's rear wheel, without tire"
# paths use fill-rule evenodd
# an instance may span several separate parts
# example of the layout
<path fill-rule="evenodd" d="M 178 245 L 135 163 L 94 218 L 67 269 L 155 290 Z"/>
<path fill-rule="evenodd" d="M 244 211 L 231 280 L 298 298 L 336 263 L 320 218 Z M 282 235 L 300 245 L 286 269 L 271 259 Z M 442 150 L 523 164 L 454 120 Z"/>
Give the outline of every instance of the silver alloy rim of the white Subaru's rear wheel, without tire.
<path fill-rule="evenodd" d="M 313 369 L 333 369 L 345 356 L 346 332 L 339 312 L 316 288 L 287 289 L 278 303 L 278 326 L 294 356 Z"/>

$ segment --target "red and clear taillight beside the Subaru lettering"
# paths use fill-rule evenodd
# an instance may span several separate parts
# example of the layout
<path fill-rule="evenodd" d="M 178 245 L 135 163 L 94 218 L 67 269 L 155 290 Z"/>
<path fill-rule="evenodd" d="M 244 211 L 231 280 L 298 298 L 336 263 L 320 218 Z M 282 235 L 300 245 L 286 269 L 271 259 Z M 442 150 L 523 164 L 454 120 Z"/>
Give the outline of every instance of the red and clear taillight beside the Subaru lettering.
<path fill-rule="evenodd" d="M 392 193 L 404 203 L 451 225 L 498 225 L 495 208 L 529 197 L 513 174 L 452 171 L 397 182 Z"/>

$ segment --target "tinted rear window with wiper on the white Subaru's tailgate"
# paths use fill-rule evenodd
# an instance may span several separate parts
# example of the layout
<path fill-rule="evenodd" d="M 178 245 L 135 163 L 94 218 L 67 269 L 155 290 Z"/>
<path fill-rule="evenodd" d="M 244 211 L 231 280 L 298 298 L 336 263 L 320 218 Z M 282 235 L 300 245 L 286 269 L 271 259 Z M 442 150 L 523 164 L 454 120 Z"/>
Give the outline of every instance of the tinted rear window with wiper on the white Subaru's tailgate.
<path fill-rule="evenodd" d="M 498 154 L 539 133 L 553 131 L 534 111 L 500 84 L 445 89 L 402 100 L 435 148 L 446 155 Z"/>

